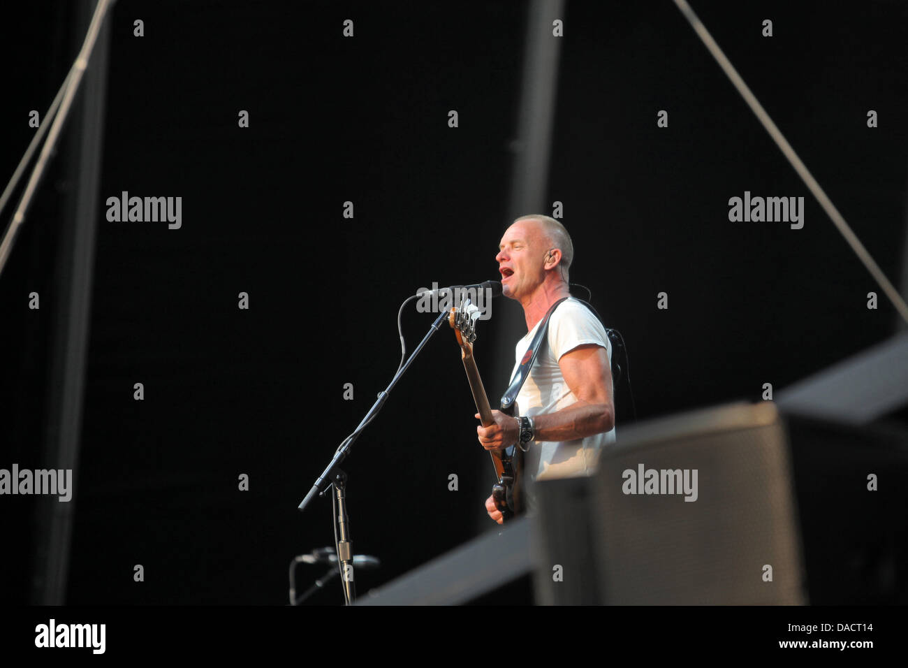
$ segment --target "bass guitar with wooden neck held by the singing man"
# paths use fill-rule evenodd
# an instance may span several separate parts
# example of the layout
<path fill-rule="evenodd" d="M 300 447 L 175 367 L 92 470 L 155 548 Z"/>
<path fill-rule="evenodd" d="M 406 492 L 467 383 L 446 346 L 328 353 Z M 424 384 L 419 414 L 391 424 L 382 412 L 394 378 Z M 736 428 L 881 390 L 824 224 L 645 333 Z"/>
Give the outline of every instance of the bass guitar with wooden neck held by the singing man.
<path fill-rule="evenodd" d="M 489 405 L 489 396 L 482 384 L 482 378 L 479 377 L 479 369 L 476 366 L 476 360 L 473 358 L 473 342 L 476 340 L 476 321 L 479 318 L 479 309 L 469 300 L 462 304 L 459 309 L 452 308 L 449 315 L 449 324 L 454 329 L 460 346 L 460 356 L 463 360 L 463 368 L 467 372 L 469 389 L 473 393 L 473 400 L 476 403 L 476 410 L 479 413 L 479 422 L 482 426 L 488 427 L 495 424 L 495 418 L 492 417 L 492 409 Z M 503 413 L 516 416 L 516 405 L 511 406 L 510 411 Z M 489 451 L 492 458 L 492 466 L 495 468 L 497 478 L 496 484 L 492 487 L 492 498 L 495 505 L 504 516 L 507 522 L 515 515 L 523 512 L 523 497 L 521 494 L 521 476 L 523 474 L 523 451 L 516 445 L 511 445 L 504 450 Z"/>

